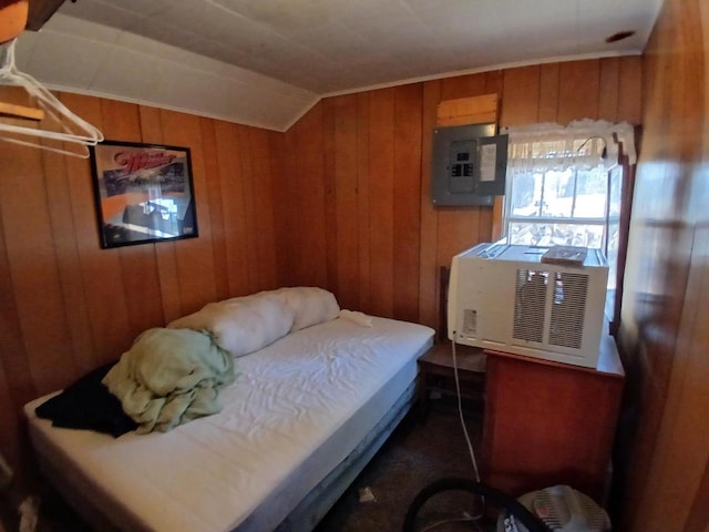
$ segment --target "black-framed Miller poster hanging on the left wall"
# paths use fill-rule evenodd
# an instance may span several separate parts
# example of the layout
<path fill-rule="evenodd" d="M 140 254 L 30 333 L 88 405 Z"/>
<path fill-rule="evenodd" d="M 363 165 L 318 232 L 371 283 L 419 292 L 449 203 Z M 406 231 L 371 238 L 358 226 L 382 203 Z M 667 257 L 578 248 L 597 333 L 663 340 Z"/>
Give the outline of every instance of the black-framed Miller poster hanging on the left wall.
<path fill-rule="evenodd" d="M 104 141 L 91 168 L 102 248 L 198 236 L 189 149 Z"/>

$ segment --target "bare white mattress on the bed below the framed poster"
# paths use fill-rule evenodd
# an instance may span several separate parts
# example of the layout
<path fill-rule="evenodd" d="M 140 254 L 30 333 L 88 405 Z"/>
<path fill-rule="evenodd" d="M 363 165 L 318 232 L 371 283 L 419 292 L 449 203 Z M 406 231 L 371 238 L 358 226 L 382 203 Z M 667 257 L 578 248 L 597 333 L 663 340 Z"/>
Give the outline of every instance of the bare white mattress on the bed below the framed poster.
<path fill-rule="evenodd" d="M 124 530 L 273 530 L 417 375 L 429 327 L 373 318 L 299 330 L 237 359 L 222 412 L 117 439 L 52 428 L 28 403 L 39 454 Z"/>

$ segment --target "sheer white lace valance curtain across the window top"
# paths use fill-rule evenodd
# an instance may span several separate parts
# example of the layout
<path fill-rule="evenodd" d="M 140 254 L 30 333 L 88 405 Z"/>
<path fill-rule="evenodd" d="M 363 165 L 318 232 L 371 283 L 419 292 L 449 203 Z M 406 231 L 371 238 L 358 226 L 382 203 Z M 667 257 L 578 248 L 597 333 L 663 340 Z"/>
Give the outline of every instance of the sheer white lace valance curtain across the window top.
<path fill-rule="evenodd" d="M 510 135 L 507 168 L 513 172 L 564 171 L 569 166 L 612 168 L 618 163 L 618 151 L 635 164 L 633 125 L 603 120 L 580 120 L 567 126 L 541 123 L 503 127 Z"/>

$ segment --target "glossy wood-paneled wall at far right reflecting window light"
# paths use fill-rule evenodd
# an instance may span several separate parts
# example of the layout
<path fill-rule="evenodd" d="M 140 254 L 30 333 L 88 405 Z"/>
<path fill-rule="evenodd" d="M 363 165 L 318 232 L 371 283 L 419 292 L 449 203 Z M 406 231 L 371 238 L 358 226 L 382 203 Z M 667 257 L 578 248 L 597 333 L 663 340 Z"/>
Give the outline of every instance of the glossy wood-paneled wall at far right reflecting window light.
<path fill-rule="evenodd" d="M 620 339 L 629 532 L 709 531 L 709 4 L 666 0 L 644 57 Z"/>

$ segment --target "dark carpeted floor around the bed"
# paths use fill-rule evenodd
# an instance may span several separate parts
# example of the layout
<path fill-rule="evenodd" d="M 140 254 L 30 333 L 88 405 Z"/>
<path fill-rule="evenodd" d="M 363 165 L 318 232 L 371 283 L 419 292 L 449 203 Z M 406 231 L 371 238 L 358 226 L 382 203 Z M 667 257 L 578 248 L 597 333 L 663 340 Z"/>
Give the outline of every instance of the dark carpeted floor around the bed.
<path fill-rule="evenodd" d="M 384 443 L 353 484 L 322 519 L 316 532 L 399 532 L 409 504 L 429 483 L 444 477 L 473 479 L 472 461 L 454 403 L 432 401 L 425 423 L 414 410 Z M 467 411 L 465 420 L 477 449 L 482 412 Z M 373 500 L 360 502 L 360 490 Z M 472 495 L 449 492 L 431 499 L 419 513 L 417 531 L 494 531 L 490 522 L 451 521 L 475 513 Z M 446 521 L 431 528 L 432 523 Z M 42 497 L 38 532 L 90 532 L 52 491 Z M 198 532 L 198 531 L 196 531 Z"/>

